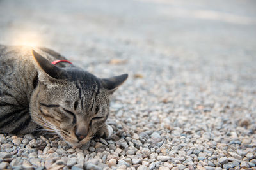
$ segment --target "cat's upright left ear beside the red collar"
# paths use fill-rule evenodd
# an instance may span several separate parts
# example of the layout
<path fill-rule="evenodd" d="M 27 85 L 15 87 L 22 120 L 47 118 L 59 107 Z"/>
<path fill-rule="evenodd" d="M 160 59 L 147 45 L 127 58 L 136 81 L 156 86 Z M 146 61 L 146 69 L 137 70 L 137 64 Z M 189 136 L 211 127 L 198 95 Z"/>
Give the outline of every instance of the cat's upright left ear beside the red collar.
<path fill-rule="evenodd" d="M 61 70 L 61 68 L 55 66 L 54 64 L 51 64 L 49 60 L 45 59 L 45 57 L 35 52 L 35 50 L 32 50 L 32 54 L 38 66 L 42 69 L 42 71 L 44 71 L 44 73 L 46 73 L 51 78 L 58 79 L 63 73 L 63 70 Z"/>

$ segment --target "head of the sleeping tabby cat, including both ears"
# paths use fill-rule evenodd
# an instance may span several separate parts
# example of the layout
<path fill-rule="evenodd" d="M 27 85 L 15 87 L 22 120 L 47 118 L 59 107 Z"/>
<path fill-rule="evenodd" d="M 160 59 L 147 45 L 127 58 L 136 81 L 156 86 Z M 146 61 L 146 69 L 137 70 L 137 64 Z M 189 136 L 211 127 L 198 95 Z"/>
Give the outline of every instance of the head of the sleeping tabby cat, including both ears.
<path fill-rule="evenodd" d="M 33 56 L 39 67 L 31 117 L 70 145 L 88 142 L 104 127 L 109 96 L 128 75 L 101 79 L 76 67 L 55 66 L 35 51 Z"/>

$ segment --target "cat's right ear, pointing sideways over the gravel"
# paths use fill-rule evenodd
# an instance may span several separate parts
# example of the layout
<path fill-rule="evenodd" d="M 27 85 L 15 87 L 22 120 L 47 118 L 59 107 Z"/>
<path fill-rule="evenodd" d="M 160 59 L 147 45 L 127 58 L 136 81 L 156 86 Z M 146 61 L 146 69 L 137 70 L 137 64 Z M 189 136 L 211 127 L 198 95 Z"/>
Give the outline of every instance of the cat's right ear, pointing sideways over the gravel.
<path fill-rule="evenodd" d="M 109 90 L 109 92 L 113 93 L 115 90 L 127 80 L 128 74 L 122 74 L 120 76 L 114 76 L 111 78 L 102 78 L 100 79 L 104 89 Z"/>

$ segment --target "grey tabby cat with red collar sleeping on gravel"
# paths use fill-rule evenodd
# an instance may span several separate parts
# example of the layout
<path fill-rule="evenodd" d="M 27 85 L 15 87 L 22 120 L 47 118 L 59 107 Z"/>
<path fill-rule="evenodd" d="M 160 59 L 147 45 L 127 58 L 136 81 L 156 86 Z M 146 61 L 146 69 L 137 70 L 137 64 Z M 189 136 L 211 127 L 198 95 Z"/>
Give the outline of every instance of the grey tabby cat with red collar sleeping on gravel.
<path fill-rule="evenodd" d="M 0 45 L 0 133 L 43 128 L 72 146 L 108 138 L 109 97 L 127 77 L 97 78 L 49 48 Z"/>

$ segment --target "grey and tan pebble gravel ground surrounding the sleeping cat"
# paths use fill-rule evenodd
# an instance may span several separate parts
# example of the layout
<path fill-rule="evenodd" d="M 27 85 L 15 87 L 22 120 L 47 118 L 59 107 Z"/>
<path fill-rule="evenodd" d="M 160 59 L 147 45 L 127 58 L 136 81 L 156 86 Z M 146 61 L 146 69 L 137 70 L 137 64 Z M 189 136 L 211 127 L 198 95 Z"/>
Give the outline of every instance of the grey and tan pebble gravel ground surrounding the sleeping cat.
<path fill-rule="evenodd" d="M 255 1 L 1 1 L 0 43 L 47 46 L 115 93 L 111 139 L 0 134 L 0 169 L 256 169 Z"/>

